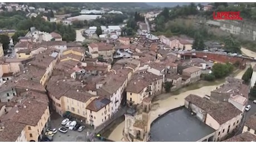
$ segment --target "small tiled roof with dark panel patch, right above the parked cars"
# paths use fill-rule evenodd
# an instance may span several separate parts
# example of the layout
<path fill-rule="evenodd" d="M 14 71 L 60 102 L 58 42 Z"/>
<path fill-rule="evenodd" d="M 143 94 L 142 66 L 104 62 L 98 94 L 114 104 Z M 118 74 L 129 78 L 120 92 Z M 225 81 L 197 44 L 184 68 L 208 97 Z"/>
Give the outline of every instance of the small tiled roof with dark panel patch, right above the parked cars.
<path fill-rule="evenodd" d="M 109 105 L 110 102 L 111 101 L 105 97 L 99 97 L 97 99 L 92 100 L 90 104 L 88 104 L 86 109 L 97 112 L 101 110 L 103 107 Z"/>

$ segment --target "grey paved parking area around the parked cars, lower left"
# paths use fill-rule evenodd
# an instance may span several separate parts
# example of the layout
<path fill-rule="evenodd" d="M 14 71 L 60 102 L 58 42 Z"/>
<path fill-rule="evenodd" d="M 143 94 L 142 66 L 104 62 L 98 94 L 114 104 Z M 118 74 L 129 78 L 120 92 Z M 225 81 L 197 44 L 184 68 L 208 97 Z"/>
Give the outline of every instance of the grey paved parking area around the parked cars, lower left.
<path fill-rule="evenodd" d="M 61 116 L 57 116 L 57 114 L 54 114 L 55 116 L 51 117 L 51 127 L 58 128 L 65 127 L 61 125 L 61 121 L 64 119 Z M 68 129 L 68 128 L 67 128 Z M 53 136 L 53 142 L 84 142 L 86 141 L 86 135 L 87 135 L 88 128 L 85 128 L 82 132 L 68 130 L 66 133 L 62 133 L 58 131 Z"/>

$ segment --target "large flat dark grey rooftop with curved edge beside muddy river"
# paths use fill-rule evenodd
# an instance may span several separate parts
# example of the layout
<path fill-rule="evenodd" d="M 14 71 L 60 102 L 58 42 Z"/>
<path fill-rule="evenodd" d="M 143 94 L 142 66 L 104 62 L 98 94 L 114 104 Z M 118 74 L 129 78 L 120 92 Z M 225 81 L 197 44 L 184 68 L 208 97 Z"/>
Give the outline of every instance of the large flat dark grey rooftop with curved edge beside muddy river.
<path fill-rule="evenodd" d="M 166 112 L 151 124 L 151 141 L 195 142 L 215 130 L 180 107 Z"/>

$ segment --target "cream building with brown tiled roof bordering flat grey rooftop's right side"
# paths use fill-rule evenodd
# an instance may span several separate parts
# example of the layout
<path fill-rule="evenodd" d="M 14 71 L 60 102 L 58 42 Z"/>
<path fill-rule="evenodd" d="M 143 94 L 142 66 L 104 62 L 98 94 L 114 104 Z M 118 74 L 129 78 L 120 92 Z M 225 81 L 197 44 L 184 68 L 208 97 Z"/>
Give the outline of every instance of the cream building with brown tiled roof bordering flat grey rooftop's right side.
<path fill-rule="evenodd" d="M 214 141 L 224 140 L 228 133 L 239 127 L 243 112 L 229 102 L 213 102 L 198 95 L 185 98 L 185 107 L 206 125 L 214 128 Z"/>

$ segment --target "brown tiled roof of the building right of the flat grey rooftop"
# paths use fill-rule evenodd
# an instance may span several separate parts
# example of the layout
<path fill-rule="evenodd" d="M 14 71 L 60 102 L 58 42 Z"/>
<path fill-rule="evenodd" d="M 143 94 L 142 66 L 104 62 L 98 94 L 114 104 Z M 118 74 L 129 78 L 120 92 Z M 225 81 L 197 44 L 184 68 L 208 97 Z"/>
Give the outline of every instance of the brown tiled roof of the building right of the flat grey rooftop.
<path fill-rule="evenodd" d="M 187 96 L 185 100 L 205 110 L 213 119 L 219 122 L 220 125 L 242 114 L 242 111 L 229 102 L 219 102 L 215 104 L 208 99 L 193 94 Z"/>

